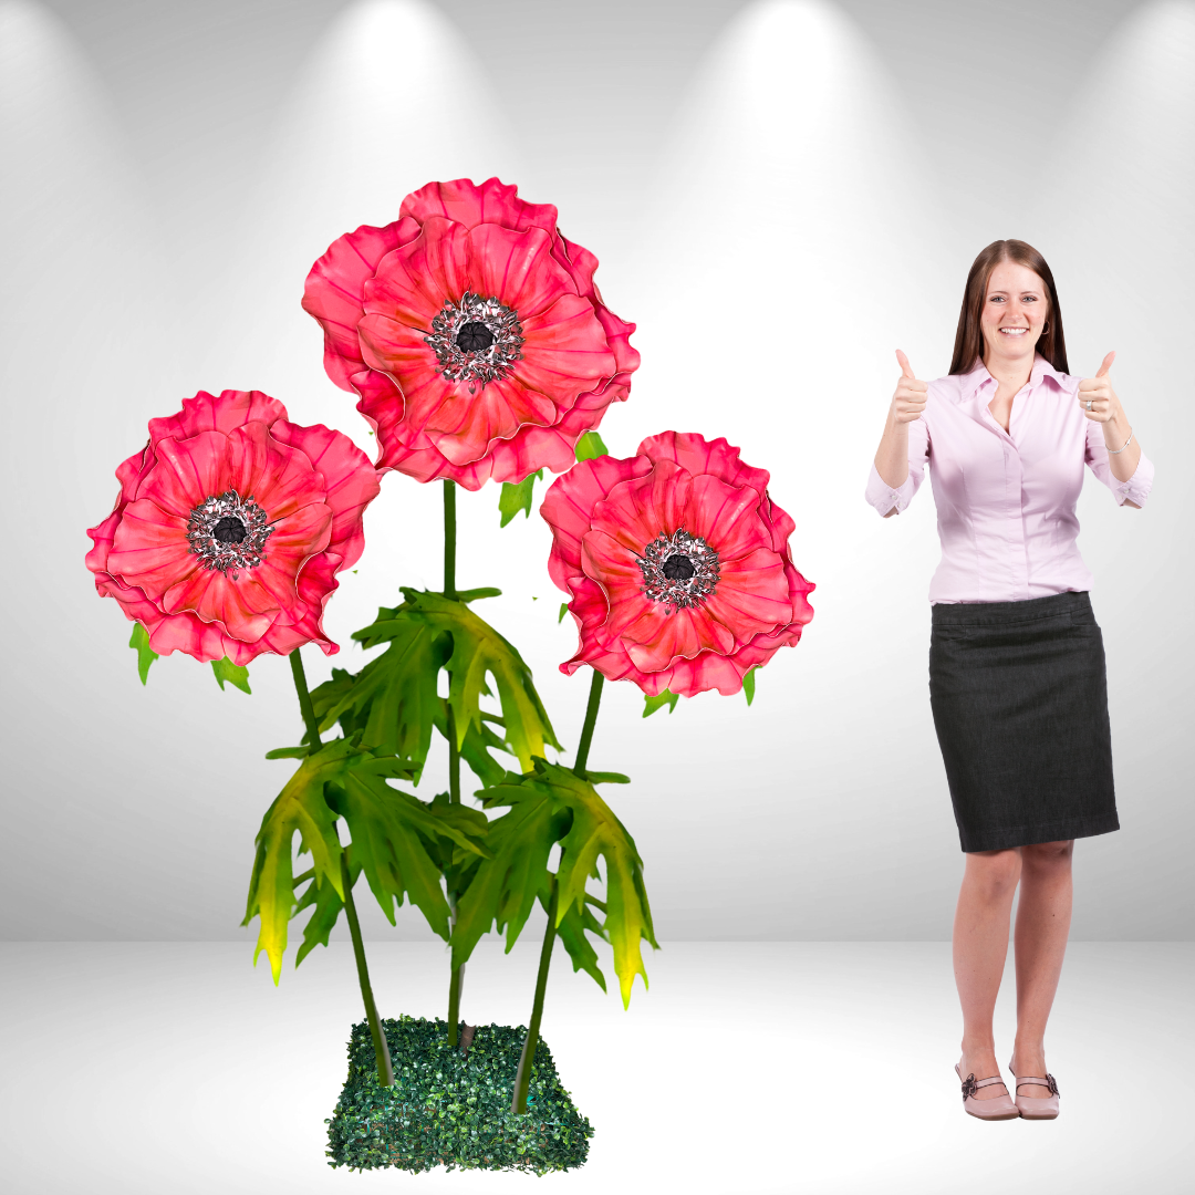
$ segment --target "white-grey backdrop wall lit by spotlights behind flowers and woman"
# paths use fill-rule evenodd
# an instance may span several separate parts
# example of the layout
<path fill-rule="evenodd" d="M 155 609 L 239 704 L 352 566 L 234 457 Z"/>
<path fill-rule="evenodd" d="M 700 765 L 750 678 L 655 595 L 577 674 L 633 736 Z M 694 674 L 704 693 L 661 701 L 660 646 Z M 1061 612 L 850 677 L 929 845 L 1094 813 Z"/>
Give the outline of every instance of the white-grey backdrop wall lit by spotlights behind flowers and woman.
<path fill-rule="evenodd" d="M 239 921 L 290 766 L 262 756 L 299 734 L 289 669 L 255 663 L 246 697 L 176 655 L 142 688 L 84 529 L 146 421 L 200 388 L 264 390 L 372 451 L 321 370 L 306 271 L 429 179 L 496 173 L 558 206 L 639 324 L 611 449 L 669 427 L 725 435 L 771 470 L 817 584 L 750 710 L 705 694 L 642 721 L 638 690 L 607 686 L 592 761 L 633 778 L 609 799 L 660 939 L 949 936 L 962 856 L 926 685 L 932 496 L 882 521 L 863 486 L 893 350 L 945 373 L 967 268 L 999 237 L 1050 262 L 1072 373 L 1117 350 L 1157 467 L 1142 511 L 1093 478 L 1080 503 L 1123 828 L 1078 846 L 1073 936 L 1189 938 L 1195 5 L 1001 13 L 0 2 L 2 936 L 256 938 Z M 357 667 L 350 631 L 399 584 L 439 586 L 439 502 L 386 478 L 329 606 L 342 654 L 307 652 L 313 684 Z M 547 531 L 535 516 L 500 533 L 496 503 L 494 486 L 461 495 L 459 581 L 504 590 L 482 612 L 575 743 L 588 678 L 557 672 L 575 632 L 556 621 Z M 430 937 L 409 909 L 396 933 L 361 906 L 367 936 Z"/>

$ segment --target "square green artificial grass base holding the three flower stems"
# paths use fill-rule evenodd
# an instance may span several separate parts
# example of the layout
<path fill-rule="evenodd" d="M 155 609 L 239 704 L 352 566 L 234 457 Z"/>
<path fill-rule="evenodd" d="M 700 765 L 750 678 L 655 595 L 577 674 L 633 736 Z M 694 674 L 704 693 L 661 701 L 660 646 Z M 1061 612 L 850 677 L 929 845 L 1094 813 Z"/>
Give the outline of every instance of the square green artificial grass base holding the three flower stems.
<path fill-rule="evenodd" d="M 478 1025 L 467 1056 L 448 1046 L 446 1021 L 403 1016 L 381 1025 L 394 1085 L 378 1081 L 368 1022 L 355 1024 L 349 1077 L 332 1119 L 324 1122 L 330 1166 L 546 1175 L 584 1164 L 594 1130 L 560 1086 L 543 1038 L 535 1047 L 527 1111 L 510 1111 L 525 1025 Z"/>

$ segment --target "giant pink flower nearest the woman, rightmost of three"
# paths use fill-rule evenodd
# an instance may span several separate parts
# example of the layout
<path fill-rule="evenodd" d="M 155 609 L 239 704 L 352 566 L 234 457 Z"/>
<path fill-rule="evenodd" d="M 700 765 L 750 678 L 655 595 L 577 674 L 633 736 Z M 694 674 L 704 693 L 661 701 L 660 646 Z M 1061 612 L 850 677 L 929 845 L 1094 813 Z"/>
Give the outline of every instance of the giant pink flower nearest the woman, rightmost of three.
<path fill-rule="evenodd" d="M 814 612 L 795 523 L 768 473 L 725 440 L 666 431 L 635 456 L 581 461 L 547 491 L 549 572 L 581 633 L 560 670 L 592 664 L 645 693 L 737 693 Z"/>

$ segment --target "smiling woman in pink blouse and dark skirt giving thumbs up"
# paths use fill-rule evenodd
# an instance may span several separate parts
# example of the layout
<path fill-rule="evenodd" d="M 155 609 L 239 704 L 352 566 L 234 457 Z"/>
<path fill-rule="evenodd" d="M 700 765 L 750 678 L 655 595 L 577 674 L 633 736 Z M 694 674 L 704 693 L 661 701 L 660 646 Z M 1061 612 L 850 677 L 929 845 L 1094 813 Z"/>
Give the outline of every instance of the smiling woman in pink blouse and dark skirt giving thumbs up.
<path fill-rule="evenodd" d="M 1044 1032 L 1071 924 L 1074 839 L 1120 828 L 1104 649 L 1076 544 L 1084 465 L 1121 505 L 1153 482 L 1108 380 L 1068 373 L 1044 258 L 998 240 L 967 278 L 950 374 L 901 379 L 868 483 L 883 515 L 930 465 L 942 563 L 930 584 L 930 701 L 967 856 L 955 917 L 963 1107 L 981 1120 L 1053 1120 Z M 1009 1095 L 992 1013 L 1017 909 L 1017 1036 Z M 976 1078 L 979 1076 L 980 1078 Z"/>

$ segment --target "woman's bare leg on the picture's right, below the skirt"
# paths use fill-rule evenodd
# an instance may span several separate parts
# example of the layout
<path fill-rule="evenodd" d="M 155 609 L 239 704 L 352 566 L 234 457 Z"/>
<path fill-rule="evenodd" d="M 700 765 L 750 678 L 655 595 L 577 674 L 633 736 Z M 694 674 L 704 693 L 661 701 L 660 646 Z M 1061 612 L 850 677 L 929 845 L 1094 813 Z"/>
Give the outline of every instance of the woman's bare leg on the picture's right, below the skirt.
<path fill-rule="evenodd" d="M 1074 842 L 1021 847 L 1021 902 L 1013 950 L 1017 958 L 1017 1074 L 1046 1074 L 1046 1022 L 1071 929 L 1071 856 Z M 1043 1099 L 1048 1089 L 1030 1085 L 1024 1096 Z"/>

